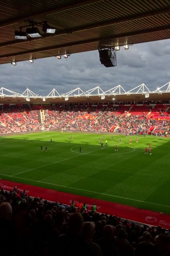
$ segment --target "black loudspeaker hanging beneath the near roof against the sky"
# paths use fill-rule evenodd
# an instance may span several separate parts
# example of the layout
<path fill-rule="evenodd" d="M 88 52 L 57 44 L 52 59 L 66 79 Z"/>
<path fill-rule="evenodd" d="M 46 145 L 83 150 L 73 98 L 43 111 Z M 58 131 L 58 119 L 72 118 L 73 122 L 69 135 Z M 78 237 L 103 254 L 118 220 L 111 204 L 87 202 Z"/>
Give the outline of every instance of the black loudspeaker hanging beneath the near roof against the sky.
<path fill-rule="evenodd" d="M 109 49 L 99 50 L 100 62 L 105 67 L 115 67 L 115 58 Z"/>

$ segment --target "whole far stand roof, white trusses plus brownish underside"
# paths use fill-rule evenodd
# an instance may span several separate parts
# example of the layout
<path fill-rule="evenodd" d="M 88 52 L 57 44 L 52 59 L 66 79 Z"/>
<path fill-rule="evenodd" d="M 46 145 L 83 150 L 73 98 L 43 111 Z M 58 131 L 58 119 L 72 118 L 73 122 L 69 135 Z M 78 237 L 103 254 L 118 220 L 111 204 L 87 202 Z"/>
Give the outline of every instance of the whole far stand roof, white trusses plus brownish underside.
<path fill-rule="evenodd" d="M 0 89 L 0 104 L 52 104 L 52 103 L 104 103 L 104 102 L 148 102 L 170 101 L 170 82 L 150 91 L 145 84 L 138 85 L 126 91 L 121 85 L 103 91 L 99 86 L 88 91 L 82 91 L 79 87 L 67 93 L 58 93 L 54 88 L 48 95 L 38 95 L 28 88 L 22 93 Z"/>

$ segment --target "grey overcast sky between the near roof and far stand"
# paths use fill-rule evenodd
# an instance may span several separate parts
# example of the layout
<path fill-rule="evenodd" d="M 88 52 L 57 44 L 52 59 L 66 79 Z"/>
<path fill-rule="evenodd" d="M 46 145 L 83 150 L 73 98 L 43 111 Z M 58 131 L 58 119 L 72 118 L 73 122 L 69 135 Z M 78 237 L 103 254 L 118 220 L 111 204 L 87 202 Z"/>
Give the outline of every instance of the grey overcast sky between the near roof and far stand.
<path fill-rule="evenodd" d="M 106 68 L 98 51 L 72 54 L 68 59 L 55 57 L 0 66 L 0 87 L 23 93 L 27 88 L 47 95 L 53 88 L 66 93 L 80 87 L 83 91 L 100 86 L 107 91 L 122 85 L 128 91 L 144 83 L 155 90 L 170 81 L 170 39 L 121 47 L 117 67 Z"/>

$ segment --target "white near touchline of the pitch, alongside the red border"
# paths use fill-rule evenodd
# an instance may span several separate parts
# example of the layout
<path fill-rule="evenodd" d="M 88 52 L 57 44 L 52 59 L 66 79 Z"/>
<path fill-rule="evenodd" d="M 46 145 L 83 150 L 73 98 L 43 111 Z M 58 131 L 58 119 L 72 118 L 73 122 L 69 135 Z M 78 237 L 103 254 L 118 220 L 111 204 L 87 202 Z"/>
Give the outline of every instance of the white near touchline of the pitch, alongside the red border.
<path fill-rule="evenodd" d="M 13 176 L 13 175 L 6 175 L 6 174 L 0 174 L 0 175 L 4 175 L 4 176 L 8 176 L 8 177 L 12 177 L 12 176 Z M 56 186 L 56 187 L 71 188 L 71 189 L 81 190 L 81 191 L 85 191 L 85 192 L 89 192 L 89 193 L 100 194 L 100 195 L 103 195 L 103 196 L 110 196 L 110 197 L 123 198 L 123 199 L 131 200 L 131 201 L 136 201 L 136 202 L 141 202 L 141 203 L 149 203 L 149 204 L 151 204 L 151 205 L 159 205 L 159 206 L 164 206 L 164 207 L 169 207 L 169 208 L 170 208 L 170 206 L 168 206 L 168 205 L 160 205 L 159 203 L 151 203 L 151 202 L 141 201 L 141 200 L 132 199 L 132 198 L 128 198 L 128 197 L 114 196 L 114 195 L 110 195 L 110 194 L 105 194 L 105 193 L 90 191 L 90 190 L 81 189 L 81 188 L 72 188 L 72 187 L 67 187 L 67 186 L 64 186 L 64 185 L 58 185 L 58 184 L 48 183 L 48 182 L 39 181 L 39 180 L 31 180 L 31 179 L 26 179 L 26 178 L 21 178 L 21 177 L 15 177 L 15 178 L 23 179 L 23 180 L 29 180 L 29 181 L 34 181 L 34 182 L 43 183 L 43 184 L 48 184 L 48 185 L 53 185 L 53 186 Z"/>

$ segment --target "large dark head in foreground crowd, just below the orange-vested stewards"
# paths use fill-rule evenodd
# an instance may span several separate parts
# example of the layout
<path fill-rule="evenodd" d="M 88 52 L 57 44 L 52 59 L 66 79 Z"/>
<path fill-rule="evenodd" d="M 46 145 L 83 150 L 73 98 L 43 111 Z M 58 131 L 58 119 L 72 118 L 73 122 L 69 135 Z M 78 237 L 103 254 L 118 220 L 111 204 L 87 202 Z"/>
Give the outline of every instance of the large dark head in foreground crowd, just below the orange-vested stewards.
<path fill-rule="evenodd" d="M 69 217 L 68 230 L 70 233 L 81 234 L 83 218 L 79 212 L 71 214 Z"/>

